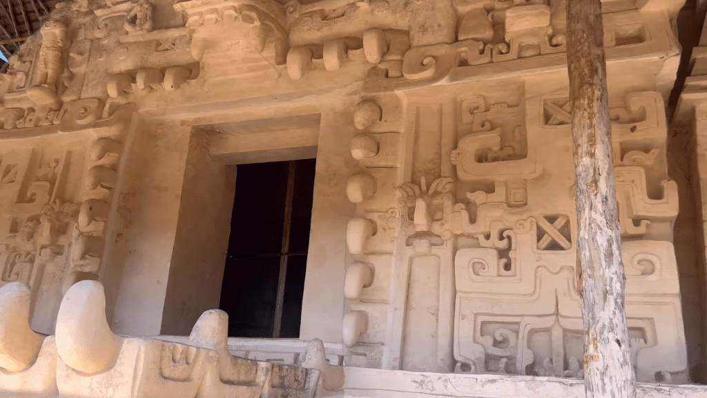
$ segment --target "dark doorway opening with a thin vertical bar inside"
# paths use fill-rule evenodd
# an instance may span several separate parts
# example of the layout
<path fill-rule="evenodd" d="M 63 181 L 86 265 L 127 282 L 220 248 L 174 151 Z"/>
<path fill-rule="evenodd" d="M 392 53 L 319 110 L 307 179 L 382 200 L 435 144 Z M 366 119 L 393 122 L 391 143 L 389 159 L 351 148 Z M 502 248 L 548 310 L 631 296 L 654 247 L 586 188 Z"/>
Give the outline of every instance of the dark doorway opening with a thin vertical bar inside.
<path fill-rule="evenodd" d="M 315 164 L 238 165 L 219 306 L 228 336 L 299 337 Z"/>

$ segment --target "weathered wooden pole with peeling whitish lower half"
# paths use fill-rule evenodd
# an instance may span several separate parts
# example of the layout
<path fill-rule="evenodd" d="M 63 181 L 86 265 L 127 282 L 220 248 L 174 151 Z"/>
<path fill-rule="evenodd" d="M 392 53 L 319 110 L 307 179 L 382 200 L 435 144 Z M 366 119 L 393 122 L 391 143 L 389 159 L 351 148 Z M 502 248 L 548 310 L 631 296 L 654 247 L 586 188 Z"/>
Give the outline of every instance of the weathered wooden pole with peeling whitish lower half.
<path fill-rule="evenodd" d="M 587 398 L 635 398 L 603 35 L 600 0 L 567 1 L 585 390 Z"/>

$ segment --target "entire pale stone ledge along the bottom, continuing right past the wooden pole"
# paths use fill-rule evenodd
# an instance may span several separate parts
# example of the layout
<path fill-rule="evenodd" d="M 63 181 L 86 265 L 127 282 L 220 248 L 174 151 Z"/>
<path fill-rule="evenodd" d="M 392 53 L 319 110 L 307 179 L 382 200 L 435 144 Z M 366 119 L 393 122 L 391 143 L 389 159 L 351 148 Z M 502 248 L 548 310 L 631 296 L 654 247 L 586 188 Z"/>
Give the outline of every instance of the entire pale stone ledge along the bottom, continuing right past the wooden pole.
<path fill-rule="evenodd" d="M 28 323 L 30 291 L 0 288 L 0 396 L 12 397 L 583 397 L 558 377 L 416 373 L 342 367 L 340 345 L 313 340 L 227 339 L 225 312 L 204 312 L 188 339 L 112 334 L 103 286 L 84 280 L 62 301 L 55 336 Z M 166 341 L 171 340 L 171 341 Z M 180 341 L 180 342 L 175 342 Z M 264 353 L 249 360 L 228 351 Z M 327 351 L 329 363 L 327 363 Z M 298 353 L 300 365 L 267 362 Z M 279 359 L 271 357 L 271 360 Z M 638 397 L 703 397 L 707 386 L 638 383 Z"/>

